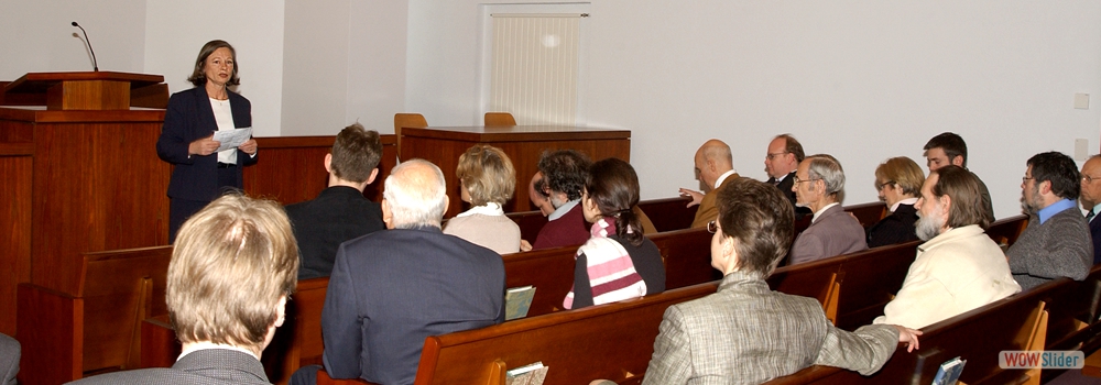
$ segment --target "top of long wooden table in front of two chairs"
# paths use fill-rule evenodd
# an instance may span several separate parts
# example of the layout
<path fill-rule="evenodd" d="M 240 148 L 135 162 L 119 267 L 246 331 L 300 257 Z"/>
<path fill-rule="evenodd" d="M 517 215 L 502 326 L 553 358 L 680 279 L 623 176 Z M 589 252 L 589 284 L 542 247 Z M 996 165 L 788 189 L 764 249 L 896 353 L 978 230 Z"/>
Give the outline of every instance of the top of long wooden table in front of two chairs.
<path fill-rule="evenodd" d="M 464 142 L 533 142 L 631 139 L 631 130 L 575 125 L 429 127 L 403 128 L 402 136 L 446 139 Z"/>

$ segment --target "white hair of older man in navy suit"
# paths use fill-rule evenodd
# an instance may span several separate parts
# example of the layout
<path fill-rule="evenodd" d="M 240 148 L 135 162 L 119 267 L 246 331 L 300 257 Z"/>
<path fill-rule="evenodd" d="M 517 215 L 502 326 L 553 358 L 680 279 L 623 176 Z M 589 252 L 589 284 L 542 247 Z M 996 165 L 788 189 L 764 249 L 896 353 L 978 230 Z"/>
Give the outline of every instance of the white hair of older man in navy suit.
<path fill-rule="evenodd" d="M 425 160 L 402 162 L 386 177 L 382 198 L 390 206 L 394 229 L 438 228 L 447 209 L 444 173 Z"/>

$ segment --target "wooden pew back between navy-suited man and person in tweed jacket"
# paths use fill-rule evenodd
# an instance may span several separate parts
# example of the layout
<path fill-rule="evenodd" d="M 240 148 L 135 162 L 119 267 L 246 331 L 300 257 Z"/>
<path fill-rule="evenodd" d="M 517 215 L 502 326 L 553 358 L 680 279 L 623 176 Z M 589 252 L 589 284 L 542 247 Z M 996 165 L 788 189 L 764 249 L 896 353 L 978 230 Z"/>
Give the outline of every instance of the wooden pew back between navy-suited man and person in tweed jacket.
<path fill-rule="evenodd" d="M 425 339 L 415 384 L 504 384 L 504 370 L 542 361 L 546 385 L 622 382 L 646 371 L 657 327 L 674 304 L 718 283 L 645 298 L 525 318 Z"/>

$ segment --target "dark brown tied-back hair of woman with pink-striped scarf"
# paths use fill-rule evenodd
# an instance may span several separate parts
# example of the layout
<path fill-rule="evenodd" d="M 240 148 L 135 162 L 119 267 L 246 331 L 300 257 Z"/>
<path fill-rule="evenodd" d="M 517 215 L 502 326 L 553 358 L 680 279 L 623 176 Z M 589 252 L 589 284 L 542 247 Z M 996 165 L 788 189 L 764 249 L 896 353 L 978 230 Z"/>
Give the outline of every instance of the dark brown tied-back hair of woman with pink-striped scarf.
<path fill-rule="evenodd" d="M 633 245 L 642 244 L 642 222 L 632 210 L 639 205 L 639 175 L 631 164 L 615 157 L 593 163 L 585 179 L 585 191 L 602 216 L 615 218 L 617 235 Z"/>

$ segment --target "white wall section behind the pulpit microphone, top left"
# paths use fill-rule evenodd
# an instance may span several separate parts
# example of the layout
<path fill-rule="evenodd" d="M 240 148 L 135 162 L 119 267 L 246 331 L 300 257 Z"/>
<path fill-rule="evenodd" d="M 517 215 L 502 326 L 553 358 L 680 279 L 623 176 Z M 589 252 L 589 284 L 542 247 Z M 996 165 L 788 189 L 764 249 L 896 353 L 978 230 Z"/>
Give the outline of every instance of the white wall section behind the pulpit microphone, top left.
<path fill-rule="evenodd" d="M 3 0 L 0 80 L 26 73 L 91 70 L 91 54 L 73 21 L 88 31 L 100 70 L 142 72 L 145 0 Z"/>

